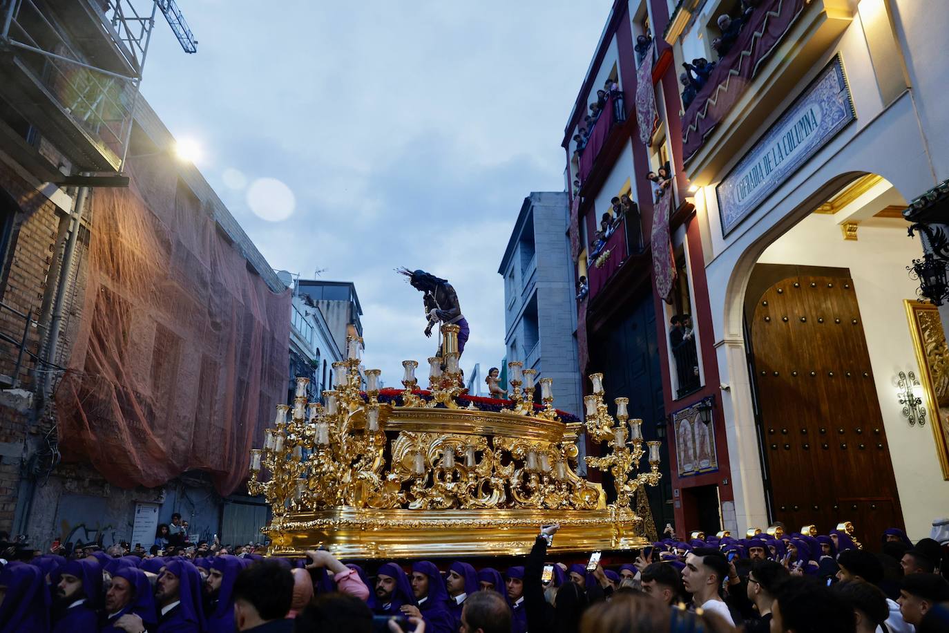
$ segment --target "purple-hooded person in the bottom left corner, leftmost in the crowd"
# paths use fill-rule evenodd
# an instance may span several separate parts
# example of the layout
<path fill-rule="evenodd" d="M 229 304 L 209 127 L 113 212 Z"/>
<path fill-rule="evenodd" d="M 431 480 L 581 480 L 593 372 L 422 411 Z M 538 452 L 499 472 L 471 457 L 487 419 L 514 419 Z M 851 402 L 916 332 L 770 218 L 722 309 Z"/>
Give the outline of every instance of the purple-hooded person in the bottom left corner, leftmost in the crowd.
<path fill-rule="evenodd" d="M 49 589 L 43 570 L 26 563 L 10 563 L 0 570 L 0 585 L 7 587 L 0 603 L 0 633 L 49 631 Z"/>

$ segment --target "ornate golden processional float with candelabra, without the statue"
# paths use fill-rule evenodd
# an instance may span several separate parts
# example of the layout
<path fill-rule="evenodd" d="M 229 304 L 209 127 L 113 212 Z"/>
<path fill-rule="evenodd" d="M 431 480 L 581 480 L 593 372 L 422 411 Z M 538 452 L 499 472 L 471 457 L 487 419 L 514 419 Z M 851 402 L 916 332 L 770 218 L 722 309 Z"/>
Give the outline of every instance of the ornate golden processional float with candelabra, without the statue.
<path fill-rule="evenodd" d="M 402 390 L 381 390 L 380 370 L 368 369 L 363 391 L 363 341 L 353 336 L 347 359 L 333 363 L 323 404 L 307 402 L 308 379 L 296 379 L 293 406 L 277 406 L 264 448 L 251 451 L 248 489 L 273 511 L 263 529 L 269 553 L 323 546 L 349 558 L 523 554 L 539 526 L 554 522 L 561 529 L 552 551 L 642 547 L 633 500 L 643 484 L 659 482 L 660 442 L 643 446 L 642 419 L 629 419 L 628 400 L 616 399 L 616 419 L 608 415 L 603 375 L 594 374 L 586 425 L 561 421 L 573 418 L 554 409 L 551 379 L 538 381 L 535 403 L 536 371 L 516 362 L 511 400 L 469 398 L 458 326 L 441 332 L 443 358 L 428 359 L 427 392 L 415 361 L 402 363 Z M 609 442 L 608 455 L 586 464 L 612 475 L 610 505 L 599 484 L 576 475 L 585 426 L 594 441 Z M 647 450 L 649 471 L 637 474 Z"/>

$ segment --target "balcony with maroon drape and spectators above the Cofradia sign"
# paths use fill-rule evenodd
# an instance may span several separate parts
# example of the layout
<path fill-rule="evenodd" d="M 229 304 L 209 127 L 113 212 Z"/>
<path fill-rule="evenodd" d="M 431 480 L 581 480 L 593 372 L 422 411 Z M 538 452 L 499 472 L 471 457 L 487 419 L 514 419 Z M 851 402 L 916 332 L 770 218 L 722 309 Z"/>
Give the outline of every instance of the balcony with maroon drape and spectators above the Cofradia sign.
<path fill-rule="evenodd" d="M 764 0 L 682 115 L 687 176 L 710 183 L 853 19 L 847 0 Z"/>

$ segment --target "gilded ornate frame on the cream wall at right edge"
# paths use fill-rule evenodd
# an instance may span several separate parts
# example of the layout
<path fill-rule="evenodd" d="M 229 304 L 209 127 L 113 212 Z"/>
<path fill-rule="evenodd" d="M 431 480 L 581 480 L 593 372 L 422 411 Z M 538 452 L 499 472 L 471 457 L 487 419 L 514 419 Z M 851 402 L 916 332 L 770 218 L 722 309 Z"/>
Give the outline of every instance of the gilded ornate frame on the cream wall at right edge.
<path fill-rule="evenodd" d="M 903 300 L 903 306 L 920 365 L 926 419 L 933 427 L 942 478 L 949 480 L 949 345 L 937 307 L 909 299 Z"/>

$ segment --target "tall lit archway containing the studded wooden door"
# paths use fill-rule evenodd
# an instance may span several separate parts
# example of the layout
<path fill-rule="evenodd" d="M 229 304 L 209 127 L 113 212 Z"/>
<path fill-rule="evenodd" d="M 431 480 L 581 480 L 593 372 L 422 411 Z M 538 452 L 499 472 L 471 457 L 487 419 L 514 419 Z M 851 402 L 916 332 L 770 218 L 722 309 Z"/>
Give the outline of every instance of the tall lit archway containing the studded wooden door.
<path fill-rule="evenodd" d="M 747 356 L 728 357 L 729 376 L 748 379 L 732 404 L 754 420 L 736 448 L 742 467 L 758 458 L 767 520 L 795 531 L 849 520 L 876 540 L 932 519 L 920 484 L 942 478 L 933 434 L 908 424 L 896 388 L 900 371 L 920 373 L 905 266 L 921 246 L 906 237 L 905 203 L 883 177 L 834 177 L 749 244 L 730 279 L 726 328 Z"/>

